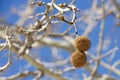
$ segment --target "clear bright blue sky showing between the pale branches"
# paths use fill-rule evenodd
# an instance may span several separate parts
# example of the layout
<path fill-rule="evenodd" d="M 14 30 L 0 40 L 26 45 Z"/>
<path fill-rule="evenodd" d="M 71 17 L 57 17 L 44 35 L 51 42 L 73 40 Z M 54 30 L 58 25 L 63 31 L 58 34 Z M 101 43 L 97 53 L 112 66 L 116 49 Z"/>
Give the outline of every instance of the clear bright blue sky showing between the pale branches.
<path fill-rule="evenodd" d="M 43 1 L 49 2 L 51 0 L 43 0 Z M 61 3 L 60 1 L 62 3 L 63 2 L 67 2 L 67 3 L 71 2 L 71 0 L 59 0 L 59 1 L 57 0 L 56 3 Z M 93 0 L 91 0 L 91 1 L 90 0 L 79 0 L 76 3 L 76 6 L 80 10 L 84 11 L 84 10 L 87 10 L 87 9 L 89 9 L 91 7 L 92 1 Z M 15 24 L 16 21 L 19 19 L 19 16 L 12 13 L 11 10 L 12 10 L 13 7 L 18 8 L 20 5 L 27 5 L 26 2 L 27 2 L 27 0 L 0 0 L 0 17 L 5 19 L 6 22 L 8 22 L 10 24 Z M 98 45 L 97 43 L 99 41 L 100 24 L 101 24 L 101 21 L 98 22 L 95 29 L 89 35 L 91 41 L 93 41 L 92 42 L 92 47 L 90 49 L 90 52 L 92 52 L 93 54 L 96 54 L 96 52 L 93 51 L 93 50 Z M 82 32 L 82 30 L 79 29 L 79 35 L 82 35 L 81 32 Z M 104 32 L 105 32 L 104 39 L 110 39 L 111 42 L 110 42 L 110 46 L 106 50 L 102 51 L 102 53 L 106 53 L 107 51 L 109 51 L 110 49 L 115 47 L 116 45 L 119 46 L 119 48 L 120 48 L 120 43 L 119 43 L 119 41 L 120 41 L 120 37 L 119 37 L 119 35 L 120 35 L 120 26 L 118 26 L 118 27 L 115 26 L 115 19 L 114 19 L 113 16 L 107 17 Z M 117 40 L 117 43 L 115 42 L 116 40 Z M 47 51 L 46 51 L 46 49 L 47 49 Z M 45 52 L 45 54 L 39 54 L 39 56 L 44 57 L 44 59 L 41 59 L 41 60 L 46 61 L 46 62 L 50 61 L 50 60 L 51 61 L 54 60 L 54 59 L 53 60 L 51 59 L 52 56 L 50 56 L 50 55 L 49 55 L 49 59 L 48 59 L 48 53 L 50 52 L 49 49 L 50 49 L 50 46 L 43 47 L 40 50 L 37 49 L 38 52 L 39 51 L 41 51 L 41 52 L 44 51 Z M 35 50 L 33 50 L 33 51 L 35 51 Z M 2 53 L 2 54 L 0 54 L 0 62 L 1 62 L 0 66 L 4 65 L 7 62 L 6 52 L 7 52 L 7 50 L 0 52 L 0 53 Z M 64 56 L 64 58 L 69 56 L 69 52 L 67 52 L 67 51 L 63 50 L 63 51 L 61 51 L 61 53 L 63 53 L 63 54 L 61 54 L 61 56 Z M 109 57 L 107 57 L 107 58 L 109 58 Z M 103 61 L 107 61 L 107 58 L 104 58 Z M 118 52 L 116 53 L 115 58 L 113 59 L 113 62 L 117 61 L 119 59 L 120 59 L 120 50 L 118 50 Z M 25 60 L 17 60 L 16 59 L 16 61 L 13 62 L 13 65 L 10 67 L 10 69 L 5 71 L 4 74 L 2 74 L 2 75 L 0 74 L 0 76 L 8 76 L 8 75 L 15 74 L 16 72 L 20 71 L 19 68 L 21 68 L 22 66 L 25 66 L 26 64 L 28 64 L 28 63 Z M 34 67 L 30 67 L 29 69 L 30 70 L 35 70 Z M 119 69 L 120 69 L 120 66 L 119 66 Z M 24 70 L 24 68 L 23 68 L 23 70 Z M 82 69 L 80 71 L 83 71 L 83 70 L 84 69 Z M 104 69 L 103 67 L 100 67 L 99 71 L 100 71 L 101 74 L 108 73 L 108 70 Z M 75 72 L 80 73 L 77 70 Z M 84 71 L 84 72 L 87 73 L 87 71 Z M 70 74 L 67 74 L 67 73 L 65 75 L 71 76 Z M 115 74 L 112 74 L 112 75 L 115 75 Z M 79 76 L 81 76 L 81 75 L 79 75 Z M 118 78 L 118 77 L 119 76 L 116 76 L 116 78 Z M 30 80 L 30 79 L 31 79 L 31 77 L 28 78 L 28 80 Z M 44 78 L 44 79 L 47 79 L 47 77 Z"/>

